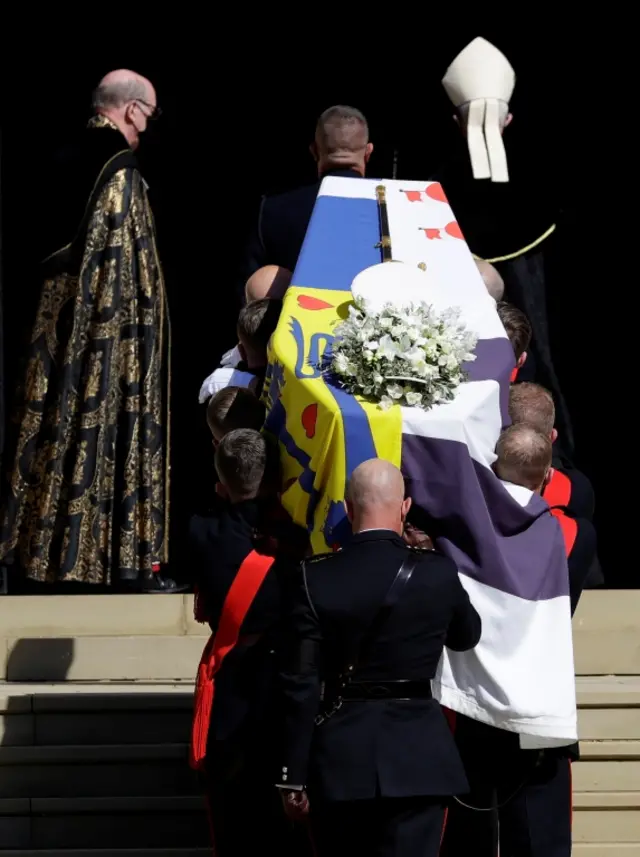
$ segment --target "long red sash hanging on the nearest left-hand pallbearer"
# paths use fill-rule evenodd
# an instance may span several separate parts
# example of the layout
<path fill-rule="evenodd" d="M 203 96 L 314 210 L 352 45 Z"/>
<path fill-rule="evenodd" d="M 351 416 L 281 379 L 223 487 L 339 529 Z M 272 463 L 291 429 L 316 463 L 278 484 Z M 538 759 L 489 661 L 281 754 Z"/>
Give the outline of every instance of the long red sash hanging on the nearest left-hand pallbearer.
<path fill-rule="evenodd" d="M 215 675 L 238 642 L 240 628 L 274 558 L 251 551 L 238 569 L 222 606 L 218 630 L 204 647 L 194 695 L 193 724 L 189 764 L 195 770 L 204 767 L 211 711 L 215 695 Z"/>

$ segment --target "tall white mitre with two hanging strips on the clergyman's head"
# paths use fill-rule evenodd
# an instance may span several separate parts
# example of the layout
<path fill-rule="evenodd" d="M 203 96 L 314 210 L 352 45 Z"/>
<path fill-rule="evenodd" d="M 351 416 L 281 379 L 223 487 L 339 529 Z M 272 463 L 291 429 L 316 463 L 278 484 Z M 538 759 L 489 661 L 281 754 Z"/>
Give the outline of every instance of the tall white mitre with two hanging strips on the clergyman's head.
<path fill-rule="evenodd" d="M 516 85 L 516 75 L 509 60 L 490 42 L 478 36 L 451 63 L 442 78 L 442 85 L 455 107 L 469 105 L 467 145 L 473 177 L 508 182 L 500 102 L 504 111 Z"/>

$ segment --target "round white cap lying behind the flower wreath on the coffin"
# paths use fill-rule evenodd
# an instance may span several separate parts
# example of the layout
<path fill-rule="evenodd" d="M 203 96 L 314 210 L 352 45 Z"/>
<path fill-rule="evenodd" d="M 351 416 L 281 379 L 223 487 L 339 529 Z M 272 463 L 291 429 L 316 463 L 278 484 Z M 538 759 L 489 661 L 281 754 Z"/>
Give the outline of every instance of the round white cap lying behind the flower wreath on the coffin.
<path fill-rule="evenodd" d="M 417 265 L 380 262 L 354 278 L 351 293 L 365 302 L 368 312 L 379 312 L 385 304 L 407 306 L 426 302 L 429 278 Z"/>

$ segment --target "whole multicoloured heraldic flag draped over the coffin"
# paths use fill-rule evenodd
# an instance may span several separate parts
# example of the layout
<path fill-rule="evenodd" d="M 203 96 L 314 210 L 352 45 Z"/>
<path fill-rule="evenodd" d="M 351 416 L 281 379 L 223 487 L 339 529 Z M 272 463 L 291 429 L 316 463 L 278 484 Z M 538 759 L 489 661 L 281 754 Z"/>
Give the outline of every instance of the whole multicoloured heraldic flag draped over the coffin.
<path fill-rule="evenodd" d="M 423 300 L 438 312 L 458 307 L 478 337 L 453 401 L 428 411 L 382 410 L 323 371 L 354 278 L 383 260 L 389 301 L 402 302 L 403 271 L 418 267 Z M 373 457 L 401 467 L 483 621 L 474 651 L 445 650 L 434 694 L 519 732 L 522 746 L 563 745 L 576 740 L 577 727 L 562 534 L 542 498 L 491 469 L 509 421 L 513 368 L 495 302 L 442 187 L 325 178 L 270 344 L 266 429 L 279 440 L 283 504 L 316 552 L 332 550 L 350 536 L 343 500 L 352 471 Z"/>

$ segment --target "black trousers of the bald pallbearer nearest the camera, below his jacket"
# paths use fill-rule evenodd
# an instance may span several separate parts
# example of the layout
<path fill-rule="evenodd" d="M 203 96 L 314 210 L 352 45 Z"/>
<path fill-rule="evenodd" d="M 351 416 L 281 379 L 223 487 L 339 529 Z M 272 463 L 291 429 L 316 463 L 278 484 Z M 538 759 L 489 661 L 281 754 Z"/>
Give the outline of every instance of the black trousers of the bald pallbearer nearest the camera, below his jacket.
<path fill-rule="evenodd" d="M 309 801 L 316 857 L 438 857 L 446 798 Z"/>

